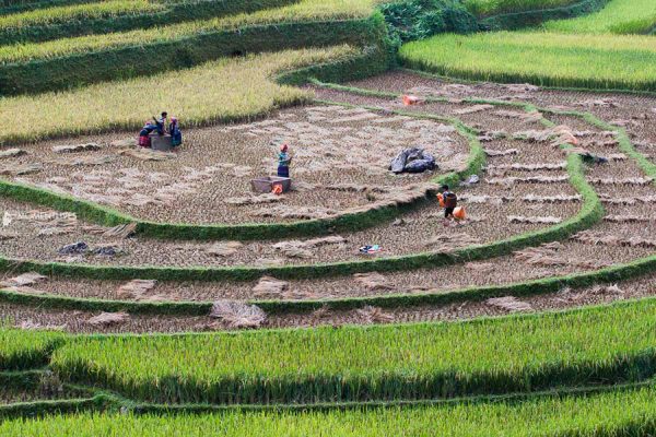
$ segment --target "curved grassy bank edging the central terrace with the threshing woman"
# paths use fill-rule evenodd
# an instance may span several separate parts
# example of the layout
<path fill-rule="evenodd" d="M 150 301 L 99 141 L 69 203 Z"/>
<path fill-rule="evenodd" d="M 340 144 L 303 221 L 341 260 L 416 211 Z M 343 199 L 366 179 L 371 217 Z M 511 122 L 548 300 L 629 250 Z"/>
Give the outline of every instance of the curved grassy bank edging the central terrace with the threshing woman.
<path fill-rule="evenodd" d="M 311 70 L 312 71 L 312 70 Z M 307 73 L 303 72 L 303 74 Z M 284 79 L 285 82 L 300 81 L 296 73 L 291 73 Z M 372 108 L 375 109 L 375 108 Z M 397 113 L 400 114 L 400 113 Z M 469 143 L 469 157 L 465 169 L 461 172 L 452 172 L 438 176 L 431 182 L 456 184 L 464 180 L 472 174 L 480 172 L 484 165 L 485 155 L 476 138 L 473 131 L 456 119 L 443 117 L 426 117 L 421 115 L 406 114 L 413 118 L 429 118 L 432 120 L 447 122 L 454 126 L 457 132 L 467 139 Z M 333 218 L 315 218 L 300 221 L 294 223 L 277 224 L 243 224 L 243 225 L 190 225 L 173 223 L 155 223 L 141 221 L 129 216 L 110 208 L 102 206 L 97 203 L 72 196 L 65 196 L 49 190 L 31 187 L 24 184 L 11 182 L 0 179 L 0 196 L 54 208 L 59 211 L 68 211 L 78 214 L 79 217 L 106 226 L 116 226 L 125 223 L 137 223 L 137 233 L 145 237 L 162 239 L 274 239 L 289 238 L 292 236 L 312 236 L 327 234 L 330 231 L 358 231 L 390 221 L 403 213 L 408 209 L 417 208 L 419 203 L 425 201 L 434 190 L 431 184 L 426 188 L 418 189 L 415 197 L 408 203 L 384 204 L 371 208 L 360 212 L 347 212 L 339 214 Z"/>

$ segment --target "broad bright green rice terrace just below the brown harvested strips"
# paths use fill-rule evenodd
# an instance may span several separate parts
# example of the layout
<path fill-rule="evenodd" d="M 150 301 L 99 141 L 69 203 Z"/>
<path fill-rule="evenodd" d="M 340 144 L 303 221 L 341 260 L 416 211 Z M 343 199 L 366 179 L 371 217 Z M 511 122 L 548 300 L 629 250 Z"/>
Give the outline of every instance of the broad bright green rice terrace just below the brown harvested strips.
<path fill-rule="evenodd" d="M 79 338 L 54 367 L 163 402 L 427 399 L 640 379 L 656 300 L 473 322 Z"/>

